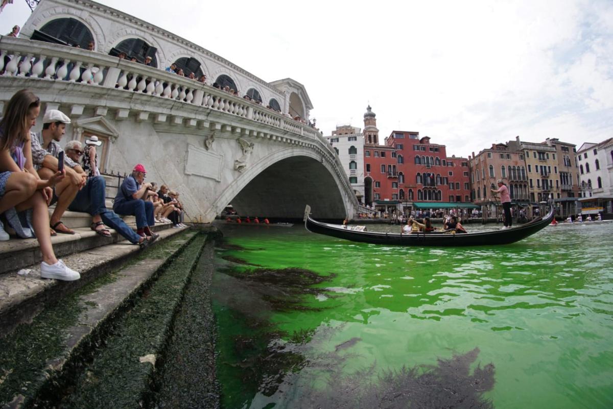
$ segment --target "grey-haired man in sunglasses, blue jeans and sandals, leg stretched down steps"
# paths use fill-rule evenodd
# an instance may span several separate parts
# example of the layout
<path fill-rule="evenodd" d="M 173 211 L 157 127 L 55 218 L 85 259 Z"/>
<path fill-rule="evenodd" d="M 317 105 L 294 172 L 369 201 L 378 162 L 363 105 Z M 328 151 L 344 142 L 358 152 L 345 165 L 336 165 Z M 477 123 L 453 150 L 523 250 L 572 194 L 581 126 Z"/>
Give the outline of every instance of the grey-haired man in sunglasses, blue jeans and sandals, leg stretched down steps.
<path fill-rule="evenodd" d="M 83 156 L 83 146 L 77 140 L 69 141 L 66 144 L 66 155 L 78 163 L 80 157 Z M 79 190 L 68 209 L 74 212 L 89 213 L 92 219 L 90 228 L 96 231 L 98 235 L 110 236 L 110 231 L 106 227 L 109 226 L 132 244 L 139 244 L 141 248 L 146 247 L 149 244 L 147 239 L 137 235 L 121 217 L 107 209 L 105 190 L 106 182 L 102 176 L 89 177 L 85 187 Z"/>

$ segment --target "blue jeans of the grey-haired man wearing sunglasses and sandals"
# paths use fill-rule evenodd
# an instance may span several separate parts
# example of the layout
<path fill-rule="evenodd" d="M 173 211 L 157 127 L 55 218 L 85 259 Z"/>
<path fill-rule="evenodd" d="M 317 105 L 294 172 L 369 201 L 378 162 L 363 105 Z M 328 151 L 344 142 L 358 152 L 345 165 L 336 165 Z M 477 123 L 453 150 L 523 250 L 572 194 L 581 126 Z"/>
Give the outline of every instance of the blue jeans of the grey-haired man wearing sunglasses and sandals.
<path fill-rule="evenodd" d="M 83 189 L 79 190 L 68 209 L 74 212 L 86 212 L 91 216 L 100 215 L 102 222 L 115 229 L 121 236 L 136 244 L 140 236 L 136 234 L 126 222 L 121 220 L 115 212 L 107 209 L 104 192 L 107 185 L 102 176 L 89 178 Z"/>

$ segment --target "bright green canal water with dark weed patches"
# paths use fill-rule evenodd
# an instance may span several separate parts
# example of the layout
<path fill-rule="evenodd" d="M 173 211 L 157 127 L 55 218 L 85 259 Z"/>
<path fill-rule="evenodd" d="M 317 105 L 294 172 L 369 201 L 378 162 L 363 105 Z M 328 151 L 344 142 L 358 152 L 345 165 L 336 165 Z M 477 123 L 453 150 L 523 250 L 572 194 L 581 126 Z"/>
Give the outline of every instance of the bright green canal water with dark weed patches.
<path fill-rule="evenodd" d="M 444 249 L 221 228 L 224 408 L 613 408 L 613 223 Z"/>

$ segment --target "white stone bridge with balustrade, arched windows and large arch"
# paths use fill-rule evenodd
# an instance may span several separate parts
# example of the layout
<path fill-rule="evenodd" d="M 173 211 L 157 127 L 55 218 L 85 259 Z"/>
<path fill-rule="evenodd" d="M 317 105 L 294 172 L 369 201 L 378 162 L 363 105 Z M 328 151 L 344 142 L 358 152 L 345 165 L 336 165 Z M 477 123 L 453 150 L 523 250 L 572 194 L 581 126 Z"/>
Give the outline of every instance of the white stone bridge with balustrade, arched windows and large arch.
<path fill-rule="evenodd" d="M 118 58 L 120 52 L 137 61 Z M 283 218 L 301 217 L 307 203 L 322 219 L 359 211 L 338 156 L 308 125 L 312 105 L 297 81 L 266 83 L 194 43 L 86 0 L 41 1 L 19 38 L 0 38 L 0 53 L 0 105 L 31 89 L 42 101 L 41 119 L 48 109 L 71 118 L 62 143 L 96 135 L 101 171 L 129 172 L 143 163 L 147 180 L 178 190 L 193 217 L 209 222 L 229 203 L 239 214 Z M 147 56 L 152 66 L 142 63 Z M 206 75 L 207 83 L 164 70 L 173 62 Z"/>

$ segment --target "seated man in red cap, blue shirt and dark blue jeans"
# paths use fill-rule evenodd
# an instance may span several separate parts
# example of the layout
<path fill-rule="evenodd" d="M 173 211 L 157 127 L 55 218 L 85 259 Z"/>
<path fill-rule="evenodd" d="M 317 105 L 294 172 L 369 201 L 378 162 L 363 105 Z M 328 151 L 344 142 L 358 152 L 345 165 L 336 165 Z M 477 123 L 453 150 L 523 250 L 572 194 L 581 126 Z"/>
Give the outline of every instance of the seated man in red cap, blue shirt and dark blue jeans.
<path fill-rule="evenodd" d="M 136 216 L 136 233 L 147 237 L 151 242 L 158 238 L 150 227 L 155 225 L 153 216 L 153 203 L 146 200 L 156 195 L 150 183 L 144 183 L 145 167 L 138 163 L 132 170 L 132 174 L 124 179 L 120 189 L 117 190 L 113 211 L 122 216 Z"/>

